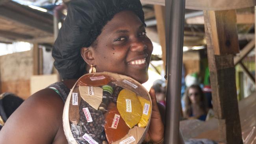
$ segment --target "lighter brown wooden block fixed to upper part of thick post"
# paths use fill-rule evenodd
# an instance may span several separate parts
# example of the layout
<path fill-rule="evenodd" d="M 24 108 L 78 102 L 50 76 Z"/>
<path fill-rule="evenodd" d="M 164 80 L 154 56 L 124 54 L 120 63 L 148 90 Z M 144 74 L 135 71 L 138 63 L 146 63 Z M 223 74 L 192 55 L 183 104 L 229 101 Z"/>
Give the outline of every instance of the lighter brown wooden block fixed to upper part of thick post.
<path fill-rule="evenodd" d="M 208 13 L 211 22 L 214 54 L 239 53 L 236 10 L 208 11 Z"/>

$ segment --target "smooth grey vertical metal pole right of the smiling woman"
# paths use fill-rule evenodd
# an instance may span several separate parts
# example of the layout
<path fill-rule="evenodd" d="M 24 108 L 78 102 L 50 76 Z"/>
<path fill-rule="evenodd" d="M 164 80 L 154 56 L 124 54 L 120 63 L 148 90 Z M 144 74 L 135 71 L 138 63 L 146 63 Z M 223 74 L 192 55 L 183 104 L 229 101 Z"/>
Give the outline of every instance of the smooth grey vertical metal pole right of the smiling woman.
<path fill-rule="evenodd" d="M 167 98 L 165 144 L 180 144 L 180 94 L 185 0 L 165 0 Z"/>

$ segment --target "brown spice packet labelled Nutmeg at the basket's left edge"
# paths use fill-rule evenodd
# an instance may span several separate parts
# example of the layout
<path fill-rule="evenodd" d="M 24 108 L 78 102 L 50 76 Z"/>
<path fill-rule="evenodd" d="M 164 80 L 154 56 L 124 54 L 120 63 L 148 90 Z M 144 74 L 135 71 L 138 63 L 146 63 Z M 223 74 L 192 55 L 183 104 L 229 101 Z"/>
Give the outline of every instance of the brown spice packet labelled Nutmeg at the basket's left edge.
<path fill-rule="evenodd" d="M 69 103 L 69 120 L 72 124 L 78 124 L 80 120 L 80 114 L 79 114 L 79 105 L 82 98 L 80 97 L 80 92 L 78 90 L 78 87 L 75 87 L 72 92 L 72 101 Z"/>

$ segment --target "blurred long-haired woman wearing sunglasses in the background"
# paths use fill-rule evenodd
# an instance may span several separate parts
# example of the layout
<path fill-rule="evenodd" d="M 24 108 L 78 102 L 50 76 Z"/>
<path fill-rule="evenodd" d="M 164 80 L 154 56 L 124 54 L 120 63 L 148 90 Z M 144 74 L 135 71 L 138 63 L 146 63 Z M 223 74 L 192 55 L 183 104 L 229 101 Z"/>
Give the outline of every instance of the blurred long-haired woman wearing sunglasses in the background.
<path fill-rule="evenodd" d="M 191 85 L 185 93 L 184 117 L 206 120 L 208 113 L 206 98 L 199 85 Z"/>

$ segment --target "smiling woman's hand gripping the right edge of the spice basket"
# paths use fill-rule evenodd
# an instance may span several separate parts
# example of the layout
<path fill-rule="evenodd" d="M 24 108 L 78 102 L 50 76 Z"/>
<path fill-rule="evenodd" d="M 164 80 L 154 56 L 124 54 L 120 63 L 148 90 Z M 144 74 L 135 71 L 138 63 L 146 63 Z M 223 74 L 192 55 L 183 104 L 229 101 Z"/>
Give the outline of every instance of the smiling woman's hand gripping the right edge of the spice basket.
<path fill-rule="evenodd" d="M 163 121 L 161 119 L 161 114 L 158 108 L 158 104 L 156 102 L 156 94 L 154 89 L 150 89 L 149 94 L 152 100 L 152 114 L 151 114 L 151 121 L 148 132 L 146 134 L 146 138 L 144 142 L 153 142 L 158 143 L 163 140 Z"/>

